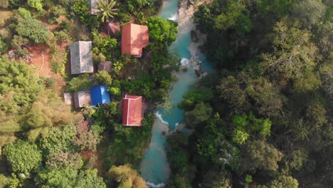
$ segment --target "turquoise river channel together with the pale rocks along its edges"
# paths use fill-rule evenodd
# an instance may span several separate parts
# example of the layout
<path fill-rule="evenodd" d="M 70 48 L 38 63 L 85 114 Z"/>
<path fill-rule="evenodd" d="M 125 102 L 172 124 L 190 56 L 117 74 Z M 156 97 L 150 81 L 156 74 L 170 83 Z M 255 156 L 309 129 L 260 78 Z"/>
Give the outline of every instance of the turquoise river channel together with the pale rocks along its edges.
<path fill-rule="evenodd" d="M 169 51 L 179 54 L 183 68 L 187 71 L 173 73 L 177 78 L 171 83 L 169 100 L 171 109 L 158 108 L 155 110 L 156 119 L 152 130 L 152 138 L 144 160 L 140 165 L 142 177 L 149 187 L 164 187 L 169 179 L 170 168 L 166 159 L 166 137 L 173 132 L 184 129 L 184 110 L 178 108 L 183 95 L 185 95 L 200 78 L 201 61 L 198 58 L 199 46 L 206 40 L 206 36 L 199 36 L 199 40 L 191 40 L 191 31 L 195 30 L 193 14 L 196 6 L 187 4 L 187 1 L 164 1 L 159 16 L 179 23 L 179 32 L 176 41 L 169 46 Z M 206 63 L 206 61 L 205 61 Z"/>

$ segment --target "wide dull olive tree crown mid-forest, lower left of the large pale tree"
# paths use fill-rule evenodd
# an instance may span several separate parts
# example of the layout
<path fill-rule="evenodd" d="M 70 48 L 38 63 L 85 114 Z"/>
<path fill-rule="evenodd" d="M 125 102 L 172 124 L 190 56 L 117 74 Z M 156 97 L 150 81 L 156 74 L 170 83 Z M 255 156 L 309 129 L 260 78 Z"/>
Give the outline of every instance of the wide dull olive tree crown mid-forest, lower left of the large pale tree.
<path fill-rule="evenodd" d="M 252 79 L 243 72 L 238 78 L 228 76 L 221 80 L 218 91 L 234 113 L 255 110 L 260 115 L 275 117 L 282 108 L 283 98 L 277 88 L 262 77 Z"/>

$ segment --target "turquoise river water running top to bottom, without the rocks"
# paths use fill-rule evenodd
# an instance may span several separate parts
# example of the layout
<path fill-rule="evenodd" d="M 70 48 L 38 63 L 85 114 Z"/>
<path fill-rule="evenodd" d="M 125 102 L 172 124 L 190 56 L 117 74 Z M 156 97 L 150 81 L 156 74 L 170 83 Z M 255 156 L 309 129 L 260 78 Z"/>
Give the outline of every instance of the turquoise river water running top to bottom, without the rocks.
<path fill-rule="evenodd" d="M 164 19 L 178 19 L 178 0 L 163 1 L 159 16 Z M 188 49 L 191 43 L 190 35 L 191 29 L 189 29 L 189 26 L 186 24 L 180 25 L 176 41 L 169 47 L 170 51 L 175 51 L 179 54 L 181 63 L 187 63 L 191 58 L 191 53 Z M 202 53 L 196 54 L 196 56 L 201 61 L 202 71 L 211 72 L 213 70 Z M 141 175 L 150 187 L 164 187 L 164 183 L 169 177 L 170 168 L 164 150 L 166 137 L 162 135 L 162 132 L 174 130 L 179 123 L 183 122 L 184 110 L 176 106 L 181 103 L 182 96 L 198 80 L 193 66 L 189 66 L 188 71 L 185 73 L 177 73 L 177 78 L 178 80 L 172 84 L 172 88 L 169 91 L 171 109 L 159 108 L 155 111 L 157 118 L 152 129 L 152 140 L 140 165 Z"/>

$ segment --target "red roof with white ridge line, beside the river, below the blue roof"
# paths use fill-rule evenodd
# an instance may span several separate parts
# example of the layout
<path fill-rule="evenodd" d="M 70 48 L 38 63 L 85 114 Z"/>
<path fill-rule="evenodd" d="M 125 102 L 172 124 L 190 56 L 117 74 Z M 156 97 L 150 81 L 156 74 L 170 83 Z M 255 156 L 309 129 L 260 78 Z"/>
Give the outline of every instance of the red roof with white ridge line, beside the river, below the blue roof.
<path fill-rule="evenodd" d="M 142 97 L 125 95 L 122 99 L 122 125 L 142 125 Z"/>

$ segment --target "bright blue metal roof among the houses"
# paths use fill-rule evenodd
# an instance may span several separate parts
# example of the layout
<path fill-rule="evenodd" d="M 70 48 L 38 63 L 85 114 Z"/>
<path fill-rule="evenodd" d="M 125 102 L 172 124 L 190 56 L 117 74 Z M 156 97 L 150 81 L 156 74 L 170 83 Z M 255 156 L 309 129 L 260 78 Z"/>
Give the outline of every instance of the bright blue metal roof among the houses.
<path fill-rule="evenodd" d="M 110 103 L 110 95 L 107 93 L 107 86 L 106 85 L 100 85 L 96 86 L 94 88 L 91 88 L 91 102 L 93 105 L 102 105 Z"/>

